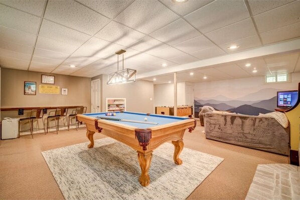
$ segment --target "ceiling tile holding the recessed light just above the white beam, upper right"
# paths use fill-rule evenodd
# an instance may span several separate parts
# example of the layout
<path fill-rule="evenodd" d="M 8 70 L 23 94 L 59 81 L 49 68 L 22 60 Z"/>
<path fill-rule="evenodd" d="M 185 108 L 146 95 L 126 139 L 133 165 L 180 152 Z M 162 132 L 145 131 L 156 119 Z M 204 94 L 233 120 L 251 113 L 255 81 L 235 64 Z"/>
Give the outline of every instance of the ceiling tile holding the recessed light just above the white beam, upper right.
<path fill-rule="evenodd" d="M 238 45 L 239 48 L 228 49 L 228 47 L 230 47 L 232 45 Z M 219 45 L 219 47 L 222 48 L 227 53 L 242 51 L 245 49 L 250 49 L 250 48 L 259 47 L 259 46 L 261 46 L 261 43 L 260 43 L 260 40 L 257 35 L 250 36 L 247 38 L 242 38 L 240 40 L 236 40 L 236 41 L 232 41 L 232 42 L 229 42 L 226 44 Z"/>

